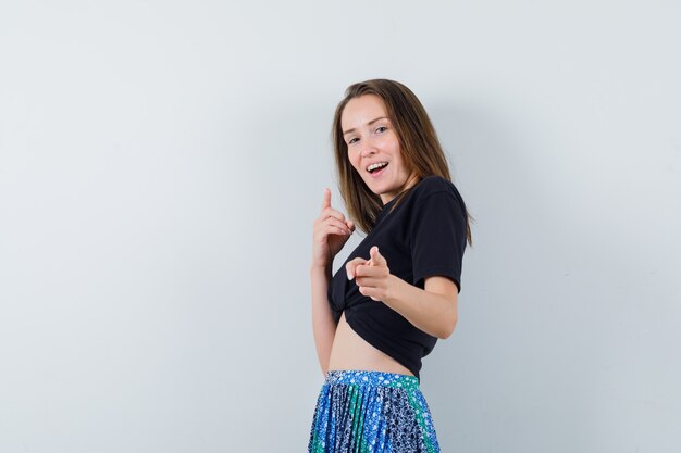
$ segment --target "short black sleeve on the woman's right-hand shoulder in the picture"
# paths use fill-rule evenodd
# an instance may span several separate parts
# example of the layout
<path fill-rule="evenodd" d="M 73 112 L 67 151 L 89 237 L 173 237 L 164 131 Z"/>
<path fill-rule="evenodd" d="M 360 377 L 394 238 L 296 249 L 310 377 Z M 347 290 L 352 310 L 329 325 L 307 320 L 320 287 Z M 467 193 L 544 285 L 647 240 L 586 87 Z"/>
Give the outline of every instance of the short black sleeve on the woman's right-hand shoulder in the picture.
<path fill-rule="evenodd" d="M 444 276 L 461 291 L 461 262 L 466 249 L 466 207 L 458 193 L 441 190 L 416 200 L 409 238 L 413 285 Z"/>

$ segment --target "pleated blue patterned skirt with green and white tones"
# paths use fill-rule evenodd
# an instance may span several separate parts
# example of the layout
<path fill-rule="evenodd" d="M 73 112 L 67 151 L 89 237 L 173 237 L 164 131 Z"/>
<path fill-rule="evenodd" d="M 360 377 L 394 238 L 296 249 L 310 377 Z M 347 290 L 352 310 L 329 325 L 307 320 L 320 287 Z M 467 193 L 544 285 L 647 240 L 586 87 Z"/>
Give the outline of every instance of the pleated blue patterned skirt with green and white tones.
<path fill-rule="evenodd" d="M 329 372 L 308 451 L 439 452 L 419 379 L 382 372 Z"/>

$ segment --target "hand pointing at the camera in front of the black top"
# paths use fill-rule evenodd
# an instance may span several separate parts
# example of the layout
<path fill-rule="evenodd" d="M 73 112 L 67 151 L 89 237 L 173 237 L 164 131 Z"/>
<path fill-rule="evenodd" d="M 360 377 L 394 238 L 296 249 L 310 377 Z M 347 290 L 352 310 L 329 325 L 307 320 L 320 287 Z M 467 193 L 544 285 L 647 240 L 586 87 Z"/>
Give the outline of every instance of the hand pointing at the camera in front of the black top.
<path fill-rule="evenodd" d="M 371 255 L 369 261 L 362 257 L 350 260 L 345 265 L 345 270 L 348 279 L 355 278 L 359 292 L 374 301 L 385 301 L 389 297 L 393 282 L 391 269 L 376 246 L 371 248 L 369 254 Z"/>

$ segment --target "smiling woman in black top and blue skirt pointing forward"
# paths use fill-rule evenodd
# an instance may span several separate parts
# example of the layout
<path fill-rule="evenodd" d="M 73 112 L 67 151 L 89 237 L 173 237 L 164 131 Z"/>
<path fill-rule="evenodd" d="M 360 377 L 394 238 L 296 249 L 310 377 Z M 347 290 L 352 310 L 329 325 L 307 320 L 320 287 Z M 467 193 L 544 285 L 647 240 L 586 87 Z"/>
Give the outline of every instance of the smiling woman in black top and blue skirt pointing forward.
<path fill-rule="evenodd" d="M 419 372 L 457 323 L 466 205 L 425 110 L 399 83 L 350 86 L 333 141 L 349 218 L 326 189 L 310 269 L 326 380 L 309 451 L 438 452 Z M 332 277 L 356 225 L 368 235 Z"/>

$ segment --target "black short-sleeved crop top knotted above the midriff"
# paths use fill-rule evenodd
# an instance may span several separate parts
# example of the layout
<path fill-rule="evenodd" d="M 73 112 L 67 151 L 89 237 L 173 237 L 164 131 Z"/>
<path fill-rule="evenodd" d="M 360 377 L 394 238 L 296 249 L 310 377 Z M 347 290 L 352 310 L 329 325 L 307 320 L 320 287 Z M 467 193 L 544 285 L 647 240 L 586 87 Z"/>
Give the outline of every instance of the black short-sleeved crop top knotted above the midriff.
<path fill-rule="evenodd" d="M 331 280 L 327 297 L 335 320 L 345 312 L 348 325 L 362 339 L 419 377 L 421 358 L 437 338 L 386 304 L 362 295 L 356 281 L 347 279 L 345 264 L 357 256 L 369 260 L 371 247 L 379 246 L 391 274 L 421 289 L 426 277 L 445 276 L 460 291 L 466 225 L 463 200 L 447 179 L 429 176 L 395 197 Z"/>

